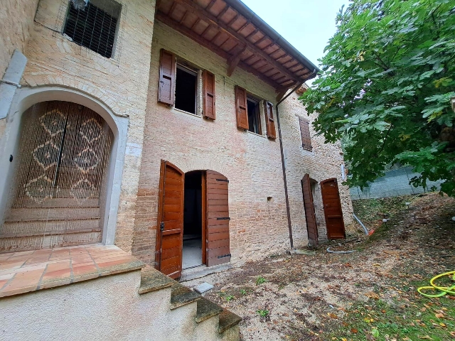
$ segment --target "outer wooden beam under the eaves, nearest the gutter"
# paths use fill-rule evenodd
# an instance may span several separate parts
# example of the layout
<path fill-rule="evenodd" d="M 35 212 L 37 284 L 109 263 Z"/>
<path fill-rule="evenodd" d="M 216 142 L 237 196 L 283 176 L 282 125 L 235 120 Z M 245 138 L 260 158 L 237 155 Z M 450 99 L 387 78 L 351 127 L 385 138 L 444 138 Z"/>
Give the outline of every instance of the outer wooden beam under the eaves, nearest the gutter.
<path fill-rule="evenodd" d="M 218 27 L 222 28 L 225 32 L 229 33 L 231 36 L 233 36 L 237 40 L 240 40 L 240 42 L 243 43 L 244 45 L 247 45 L 248 48 L 250 48 L 253 53 L 255 53 L 258 56 L 267 60 L 268 63 L 274 65 L 280 72 L 284 73 L 285 75 L 289 75 L 289 78 L 291 78 L 292 80 L 296 80 L 296 81 L 300 80 L 299 77 L 294 75 L 293 72 L 289 71 L 282 64 L 277 63 L 276 60 L 274 60 L 272 57 L 270 57 L 267 53 L 265 53 L 263 50 L 258 48 L 256 45 L 250 43 L 250 41 L 245 39 L 244 36 L 237 33 L 234 29 L 232 29 L 231 27 L 229 27 L 228 25 L 223 23 L 223 21 L 218 20 L 218 18 L 216 16 L 213 16 L 212 13 L 205 11 L 205 9 L 203 9 L 203 7 L 199 6 L 198 4 L 195 4 L 191 0 L 176 0 L 176 2 L 177 1 L 179 4 L 183 4 L 188 9 L 193 9 L 193 11 L 196 12 L 195 14 L 200 16 L 203 19 L 203 21 L 208 21 L 210 23 L 213 23 L 214 25 L 217 25 Z M 242 28 L 240 28 L 240 30 L 238 30 L 238 31 L 241 31 L 244 28 L 244 26 L 242 26 Z"/>

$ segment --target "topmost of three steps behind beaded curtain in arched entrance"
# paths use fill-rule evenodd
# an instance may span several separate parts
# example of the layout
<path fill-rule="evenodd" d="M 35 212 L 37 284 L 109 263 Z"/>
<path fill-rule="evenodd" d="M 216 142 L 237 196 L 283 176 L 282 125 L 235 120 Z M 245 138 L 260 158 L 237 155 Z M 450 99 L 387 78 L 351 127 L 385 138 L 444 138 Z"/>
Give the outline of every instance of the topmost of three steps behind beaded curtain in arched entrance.
<path fill-rule="evenodd" d="M 83 208 L 12 208 L 5 222 L 30 222 L 38 220 L 99 219 L 100 207 Z"/>

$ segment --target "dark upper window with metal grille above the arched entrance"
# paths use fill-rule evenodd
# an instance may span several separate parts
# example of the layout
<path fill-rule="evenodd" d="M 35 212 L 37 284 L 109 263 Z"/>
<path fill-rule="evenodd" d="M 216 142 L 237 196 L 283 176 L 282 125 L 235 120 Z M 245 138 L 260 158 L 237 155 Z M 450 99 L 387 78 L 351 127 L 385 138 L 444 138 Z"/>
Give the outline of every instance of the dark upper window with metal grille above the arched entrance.
<path fill-rule="evenodd" d="M 78 45 L 111 58 L 122 5 L 112 0 L 70 1 L 63 33 Z"/>

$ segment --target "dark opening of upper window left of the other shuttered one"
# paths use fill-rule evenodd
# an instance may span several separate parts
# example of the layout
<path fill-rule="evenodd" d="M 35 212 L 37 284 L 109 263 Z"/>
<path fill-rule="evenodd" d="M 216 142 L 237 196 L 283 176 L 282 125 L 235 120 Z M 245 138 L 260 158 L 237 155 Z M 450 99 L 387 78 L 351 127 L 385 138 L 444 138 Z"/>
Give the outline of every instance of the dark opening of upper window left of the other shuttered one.
<path fill-rule="evenodd" d="M 198 74 L 181 65 L 177 65 L 176 109 L 196 114 L 196 85 Z"/>

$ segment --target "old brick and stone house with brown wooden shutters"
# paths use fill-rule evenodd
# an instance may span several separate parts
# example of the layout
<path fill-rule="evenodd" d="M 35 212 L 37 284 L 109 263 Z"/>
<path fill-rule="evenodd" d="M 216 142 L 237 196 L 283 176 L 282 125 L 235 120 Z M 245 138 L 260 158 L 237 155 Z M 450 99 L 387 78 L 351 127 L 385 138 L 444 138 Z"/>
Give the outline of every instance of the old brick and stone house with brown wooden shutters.
<path fill-rule="evenodd" d="M 241 1 L 1 11 L 0 252 L 114 244 L 178 278 L 344 237 L 343 153 L 298 99 L 318 69 Z"/>

